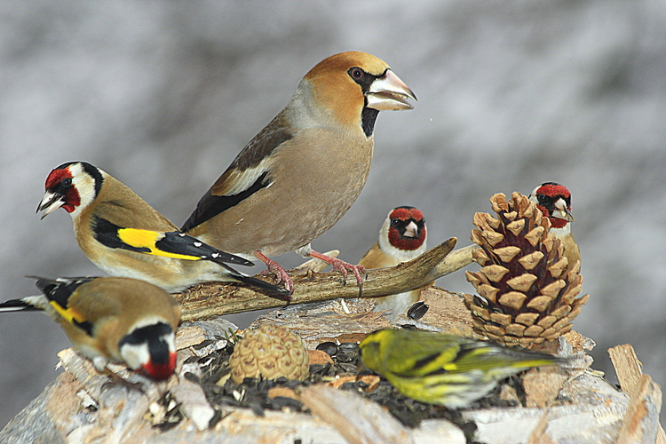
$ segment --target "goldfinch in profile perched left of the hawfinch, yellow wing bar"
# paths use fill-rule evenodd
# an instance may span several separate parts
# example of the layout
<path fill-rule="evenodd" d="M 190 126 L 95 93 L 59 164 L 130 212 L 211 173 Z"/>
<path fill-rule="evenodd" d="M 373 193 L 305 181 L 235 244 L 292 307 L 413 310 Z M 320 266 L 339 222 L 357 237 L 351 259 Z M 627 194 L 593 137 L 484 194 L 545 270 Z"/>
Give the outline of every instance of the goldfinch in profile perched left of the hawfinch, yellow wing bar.
<path fill-rule="evenodd" d="M 46 178 L 37 211 L 63 208 L 83 253 L 111 276 L 147 281 L 170 293 L 204 281 L 236 281 L 275 294 L 286 291 L 240 274 L 227 264 L 250 261 L 184 234 L 139 195 L 84 162 L 63 163 Z"/>

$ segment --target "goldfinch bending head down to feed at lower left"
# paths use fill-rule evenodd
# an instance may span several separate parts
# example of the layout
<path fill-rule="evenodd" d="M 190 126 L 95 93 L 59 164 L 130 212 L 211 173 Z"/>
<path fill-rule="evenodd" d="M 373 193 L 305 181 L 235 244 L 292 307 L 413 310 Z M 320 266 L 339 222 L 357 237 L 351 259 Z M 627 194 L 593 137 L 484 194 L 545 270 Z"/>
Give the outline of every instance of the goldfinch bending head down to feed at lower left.
<path fill-rule="evenodd" d="M 36 279 L 44 295 L 6 301 L 0 313 L 44 311 L 99 371 L 114 361 L 147 377 L 171 376 L 180 307 L 169 293 L 130 278 Z"/>

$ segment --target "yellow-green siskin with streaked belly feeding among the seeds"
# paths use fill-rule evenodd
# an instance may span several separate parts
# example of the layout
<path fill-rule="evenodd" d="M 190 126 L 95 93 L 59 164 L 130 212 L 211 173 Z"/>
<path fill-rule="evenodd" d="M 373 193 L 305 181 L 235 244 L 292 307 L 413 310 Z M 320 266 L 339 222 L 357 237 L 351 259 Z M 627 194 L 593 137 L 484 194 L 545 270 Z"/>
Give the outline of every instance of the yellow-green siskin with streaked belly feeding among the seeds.
<path fill-rule="evenodd" d="M 380 329 L 359 345 L 361 359 L 405 396 L 467 408 L 504 378 L 559 358 L 432 331 Z"/>

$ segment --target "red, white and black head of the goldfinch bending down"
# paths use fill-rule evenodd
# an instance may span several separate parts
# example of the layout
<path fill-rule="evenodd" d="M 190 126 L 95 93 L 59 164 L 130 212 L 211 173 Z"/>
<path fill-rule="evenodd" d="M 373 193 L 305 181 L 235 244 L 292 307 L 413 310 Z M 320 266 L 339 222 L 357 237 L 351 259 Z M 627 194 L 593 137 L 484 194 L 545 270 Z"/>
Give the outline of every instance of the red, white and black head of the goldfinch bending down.
<path fill-rule="evenodd" d="M 176 369 L 176 345 L 170 325 L 163 320 L 143 320 L 118 343 L 131 369 L 154 379 L 166 379 Z"/>

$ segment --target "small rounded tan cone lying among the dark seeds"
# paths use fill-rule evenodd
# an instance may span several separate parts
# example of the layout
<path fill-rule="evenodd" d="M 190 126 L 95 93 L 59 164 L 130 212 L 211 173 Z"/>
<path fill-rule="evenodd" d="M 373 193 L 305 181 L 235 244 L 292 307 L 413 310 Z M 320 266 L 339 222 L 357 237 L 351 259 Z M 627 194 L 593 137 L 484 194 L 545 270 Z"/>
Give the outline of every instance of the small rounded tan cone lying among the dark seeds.
<path fill-rule="evenodd" d="M 309 356 L 303 341 L 288 329 L 261 324 L 245 333 L 229 358 L 231 377 L 241 384 L 246 377 L 304 380 Z"/>

